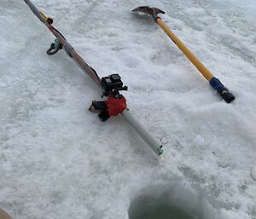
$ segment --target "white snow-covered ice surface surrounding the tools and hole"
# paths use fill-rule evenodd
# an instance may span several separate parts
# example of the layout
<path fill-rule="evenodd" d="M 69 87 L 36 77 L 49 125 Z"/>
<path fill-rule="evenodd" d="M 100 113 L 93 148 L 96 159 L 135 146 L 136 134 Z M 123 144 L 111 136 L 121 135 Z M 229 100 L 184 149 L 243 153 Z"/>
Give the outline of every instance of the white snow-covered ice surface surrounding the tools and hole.
<path fill-rule="evenodd" d="M 26 3 L 1 0 L 3 209 L 19 219 L 127 219 L 133 200 L 159 189 L 193 193 L 186 207 L 209 205 L 205 219 L 256 216 L 254 0 L 34 3 L 100 76 L 120 73 L 131 112 L 165 153 L 155 158 L 121 117 L 99 122 L 87 108 L 101 91 L 64 52 L 45 54 L 54 37 Z M 236 101 L 220 100 L 151 18 L 131 14 L 147 4 L 166 11 Z"/>

